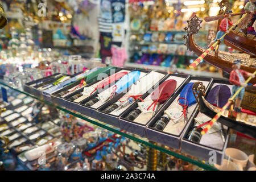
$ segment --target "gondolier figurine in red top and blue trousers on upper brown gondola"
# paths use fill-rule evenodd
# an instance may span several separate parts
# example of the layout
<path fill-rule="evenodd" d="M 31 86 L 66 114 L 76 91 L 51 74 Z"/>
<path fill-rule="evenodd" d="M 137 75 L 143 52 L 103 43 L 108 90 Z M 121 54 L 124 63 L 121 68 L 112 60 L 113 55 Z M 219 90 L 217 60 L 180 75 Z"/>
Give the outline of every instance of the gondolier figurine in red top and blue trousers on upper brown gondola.
<path fill-rule="evenodd" d="M 222 42 L 222 40 L 224 39 L 224 37 L 221 39 L 221 37 L 225 34 L 225 33 L 229 33 L 229 26 L 232 26 L 233 23 L 228 19 L 230 18 L 231 14 L 233 13 L 232 10 L 228 10 L 225 12 L 225 15 L 224 15 L 224 19 L 221 20 L 221 23 L 220 23 L 220 30 L 217 32 L 217 35 L 216 35 L 216 38 L 210 42 L 208 48 L 210 46 L 212 46 L 217 40 L 220 40 L 220 43 Z M 215 49 L 214 49 L 215 51 Z"/>

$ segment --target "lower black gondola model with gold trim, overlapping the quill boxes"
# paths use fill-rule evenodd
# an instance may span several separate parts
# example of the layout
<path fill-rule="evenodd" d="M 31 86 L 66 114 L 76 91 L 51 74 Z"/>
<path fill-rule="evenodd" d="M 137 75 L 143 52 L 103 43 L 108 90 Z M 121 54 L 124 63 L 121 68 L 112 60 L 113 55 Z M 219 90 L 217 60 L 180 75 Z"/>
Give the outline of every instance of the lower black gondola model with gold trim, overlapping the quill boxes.
<path fill-rule="evenodd" d="M 199 110 L 210 118 L 213 118 L 221 109 L 211 105 L 204 97 L 205 87 L 203 83 L 196 82 L 193 85 L 193 92 L 196 94 L 196 100 L 199 104 Z M 246 113 L 237 113 L 236 117 L 230 111 L 225 111 L 217 122 L 222 123 L 240 133 L 256 138 L 256 115 Z"/>

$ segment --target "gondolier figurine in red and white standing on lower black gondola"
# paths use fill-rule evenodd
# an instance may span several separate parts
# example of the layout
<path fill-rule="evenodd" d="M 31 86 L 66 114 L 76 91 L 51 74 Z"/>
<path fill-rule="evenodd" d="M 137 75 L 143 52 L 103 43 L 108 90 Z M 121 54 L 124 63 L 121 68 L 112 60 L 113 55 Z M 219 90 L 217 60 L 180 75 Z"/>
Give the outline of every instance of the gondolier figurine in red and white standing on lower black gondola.
<path fill-rule="evenodd" d="M 243 71 L 241 68 L 241 60 L 236 60 L 233 62 L 232 69 L 233 71 L 230 72 L 229 82 L 233 84 L 232 93 L 237 92 L 240 89 L 240 86 L 243 86 L 241 92 L 236 96 L 236 111 L 241 112 L 241 102 L 243 99 L 243 95 L 245 94 L 245 87 L 247 84 L 245 83 L 245 78 L 243 76 L 251 76 L 255 77 L 252 73 Z"/>

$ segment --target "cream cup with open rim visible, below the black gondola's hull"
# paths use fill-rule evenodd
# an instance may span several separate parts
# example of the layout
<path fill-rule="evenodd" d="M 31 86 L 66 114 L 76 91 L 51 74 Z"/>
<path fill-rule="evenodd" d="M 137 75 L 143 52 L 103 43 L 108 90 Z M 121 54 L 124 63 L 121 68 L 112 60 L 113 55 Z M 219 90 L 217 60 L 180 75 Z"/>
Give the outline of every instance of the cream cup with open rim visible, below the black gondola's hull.
<path fill-rule="evenodd" d="M 245 168 L 248 162 L 248 156 L 245 152 L 238 150 L 237 148 L 226 148 L 226 157 L 228 160 L 236 163 L 238 166 Z"/>

